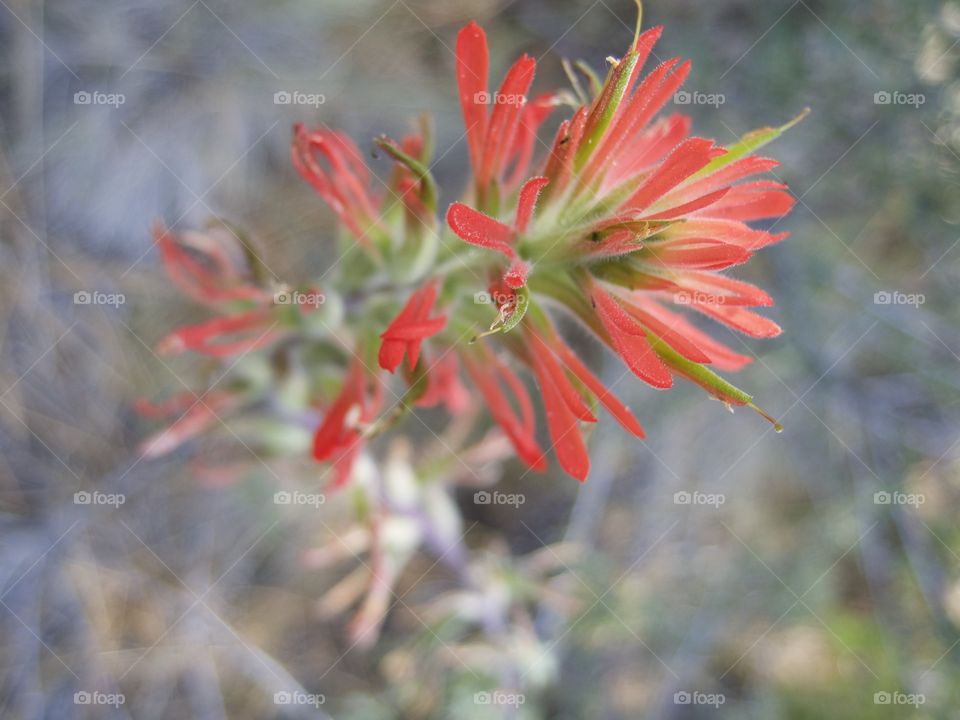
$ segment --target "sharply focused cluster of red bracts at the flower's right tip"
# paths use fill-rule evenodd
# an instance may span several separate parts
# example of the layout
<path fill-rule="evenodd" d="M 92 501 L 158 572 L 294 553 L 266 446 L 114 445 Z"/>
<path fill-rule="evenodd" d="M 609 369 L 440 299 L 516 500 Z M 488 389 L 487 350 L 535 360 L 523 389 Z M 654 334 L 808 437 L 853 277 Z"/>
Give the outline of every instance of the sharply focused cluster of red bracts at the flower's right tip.
<path fill-rule="evenodd" d="M 793 205 L 781 183 L 748 180 L 776 167 L 776 161 L 751 153 L 787 126 L 758 131 L 723 148 L 689 137 L 686 117 L 657 119 L 690 71 L 689 62 L 673 59 L 641 79 L 661 32 L 638 32 L 628 52 L 612 61 L 593 99 L 584 98 L 573 117 L 561 123 L 542 170 L 506 195 L 500 192 L 501 178 L 491 171 L 501 167 L 504 152 L 498 142 L 503 135 L 493 123 L 499 119 L 510 127 L 519 115 L 498 115 L 495 106 L 488 116 L 476 102 L 489 97 L 482 31 L 468 25 L 457 43 L 474 192 L 473 203 L 450 206 L 447 224 L 465 242 L 506 259 L 491 289 L 499 310 L 494 328 L 510 333 L 507 347 L 531 368 L 560 464 L 581 480 L 589 462 L 579 423 L 595 421 L 584 404 L 583 387 L 629 430 L 642 431 L 562 343 L 539 309 L 541 300 L 566 308 L 649 385 L 668 388 L 673 376 L 680 375 L 735 405 L 753 407 L 750 396 L 705 366 L 739 369 L 749 358 L 667 306 L 698 312 L 755 337 L 780 331 L 746 309 L 771 304 L 763 291 L 717 271 L 746 262 L 754 251 L 786 237 L 746 222 L 780 217 Z M 532 64 L 521 58 L 500 92 L 525 88 L 528 74 Z M 501 219 L 510 199 L 516 203 L 512 225 Z M 521 289 L 522 297 L 515 292 Z M 471 375 L 479 383 L 476 363 L 467 361 L 467 367 L 474 368 Z M 570 373 L 581 387 L 571 384 Z M 491 395 L 491 388 L 486 377 L 481 390 L 494 418 L 520 457 L 538 468 L 532 433 L 519 432 L 516 418 L 504 410 L 500 396 Z"/>

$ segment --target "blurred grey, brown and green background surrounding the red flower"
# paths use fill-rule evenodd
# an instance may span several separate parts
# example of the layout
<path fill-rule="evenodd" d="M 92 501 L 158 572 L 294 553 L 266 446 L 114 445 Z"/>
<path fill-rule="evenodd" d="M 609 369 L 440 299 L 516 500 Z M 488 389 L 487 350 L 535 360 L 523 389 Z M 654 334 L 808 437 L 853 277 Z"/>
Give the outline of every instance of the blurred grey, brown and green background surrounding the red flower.
<path fill-rule="evenodd" d="M 531 586 L 499 635 L 435 620 L 457 573 L 424 551 L 354 646 L 331 597 L 350 563 L 317 555 L 335 518 L 270 502 L 314 469 L 216 438 L 138 452 L 156 428 L 134 399 L 217 377 L 151 350 L 203 317 L 151 222 L 225 218 L 307 281 L 334 218 L 289 165 L 291 123 L 367 150 L 424 110 L 445 206 L 470 19 L 492 77 L 529 52 L 539 91 L 562 58 L 622 53 L 634 5 L 0 0 L 0 716 L 956 717 L 960 2 L 647 0 L 658 56 L 694 61 L 698 134 L 812 108 L 763 153 L 798 198 L 792 237 L 735 273 L 784 334 L 716 333 L 756 356 L 732 379 L 785 431 L 621 383 L 649 437 L 605 423 L 584 486 L 509 464 L 496 487 L 522 504 L 458 493 L 473 562 Z M 275 102 L 295 92 L 322 102 Z"/>

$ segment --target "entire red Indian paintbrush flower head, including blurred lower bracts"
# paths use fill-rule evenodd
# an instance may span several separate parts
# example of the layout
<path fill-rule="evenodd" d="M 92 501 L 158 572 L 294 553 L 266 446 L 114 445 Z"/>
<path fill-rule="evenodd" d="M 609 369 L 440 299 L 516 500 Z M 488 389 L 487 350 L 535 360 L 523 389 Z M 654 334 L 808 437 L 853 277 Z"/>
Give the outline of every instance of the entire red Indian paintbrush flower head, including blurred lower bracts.
<path fill-rule="evenodd" d="M 582 77 L 566 65 L 573 92 L 531 96 L 536 62 L 522 56 L 493 92 L 486 35 L 476 23 L 464 27 L 455 74 L 471 178 L 465 196 L 447 209 L 445 226 L 435 220 L 428 123 L 399 142 L 377 139 L 394 163 L 387 182 L 343 133 L 295 126 L 295 168 L 340 221 L 347 252 L 356 246 L 369 260 L 342 263 L 348 267 L 340 275 L 350 276 L 345 285 L 359 299 L 349 331 L 323 341 L 352 356 L 337 394 L 320 392 L 318 400 L 313 455 L 333 463 L 335 485 L 347 482 L 362 445 L 411 407 L 466 407 L 461 366 L 531 469 L 546 468 L 547 454 L 518 365 L 539 388 L 551 447 L 573 477 L 584 480 L 589 472 L 581 429 L 597 422 L 598 407 L 643 437 L 630 410 L 563 339 L 560 317 L 579 322 L 654 388 L 682 377 L 728 405 L 759 411 L 712 369 L 738 370 L 750 358 L 711 338 L 690 315 L 751 337 L 780 333 L 750 309 L 772 305 L 772 298 L 723 271 L 787 236 L 749 225 L 780 218 L 794 203 L 785 185 L 758 178 L 777 162 L 755 153 L 800 118 L 729 147 L 692 135 L 690 118 L 666 109 L 690 62 L 670 59 L 643 73 L 661 33 L 640 32 L 638 20 L 629 48 L 610 60 L 604 79 L 582 63 Z M 542 124 L 565 105 L 571 116 L 544 145 Z M 535 161 L 538 143 L 548 152 Z M 197 266 L 158 232 L 178 285 L 208 305 L 240 307 L 177 331 L 165 349 L 226 356 L 273 339 L 247 336 L 273 317 L 268 291 L 241 282 L 229 264 Z M 481 324 L 489 329 L 478 332 Z M 233 332 L 244 337 L 214 342 Z M 369 347 L 378 348 L 375 361 Z M 401 367 L 405 394 L 378 416 L 388 378 L 381 371 Z"/>

